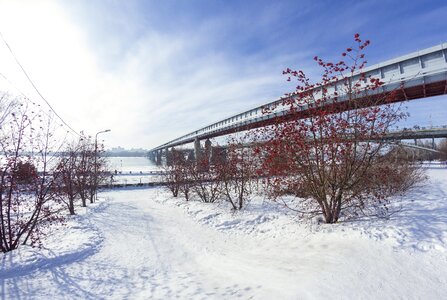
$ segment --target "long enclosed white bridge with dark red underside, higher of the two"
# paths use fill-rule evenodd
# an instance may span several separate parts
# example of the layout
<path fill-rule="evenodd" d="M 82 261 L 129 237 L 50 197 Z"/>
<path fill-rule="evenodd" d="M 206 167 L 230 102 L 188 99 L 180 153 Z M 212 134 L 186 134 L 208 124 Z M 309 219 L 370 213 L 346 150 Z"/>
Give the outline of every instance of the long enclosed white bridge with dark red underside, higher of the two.
<path fill-rule="evenodd" d="M 384 84 L 371 92 L 371 94 L 381 94 L 396 91 L 395 102 L 433 97 L 447 94 L 447 43 L 427 48 L 418 52 L 410 53 L 391 59 L 368 68 L 363 73 L 366 76 L 380 79 Z M 360 73 L 352 76 L 352 81 L 356 81 Z M 349 77 L 351 78 L 351 77 Z M 328 93 L 339 94 L 338 99 L 343 102 L 343 94 L 340 85 L 335 84 L 328 88 Z M 321 95 L 321 87 L 313 90 L 315 97 Z M 293 95 L 290 97 L 294 97 Z M 295 96 L 296 97 L 296 96 Z M 215 122 L 196 131 L 183 135 L 179 138 L 164 143 L 150 150 L 152 156 L 160 155 L 160 151 L 174 146 L 184 145 L 191 142 L 195 144 L 200 140 L 206 140 L 218 136 L 223 136 L 235 132 L 259 128 L 274 124 L 281 120 L 291 118 L 305 118 L 307 107 L 302 107 L 301 111 L 290 116 L 287 109 L 280 108 L 285 97 L 281 97 L 273 102 L 244 111 L 232 117 Z M 263 113 L 265 107 L 276 107 L 270 113 Z M 199 144 L 200 145 L 200 144 Z"/>

